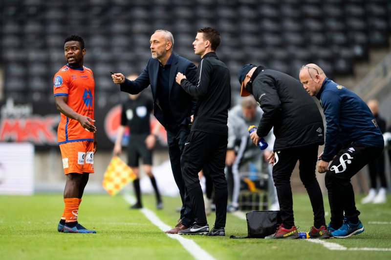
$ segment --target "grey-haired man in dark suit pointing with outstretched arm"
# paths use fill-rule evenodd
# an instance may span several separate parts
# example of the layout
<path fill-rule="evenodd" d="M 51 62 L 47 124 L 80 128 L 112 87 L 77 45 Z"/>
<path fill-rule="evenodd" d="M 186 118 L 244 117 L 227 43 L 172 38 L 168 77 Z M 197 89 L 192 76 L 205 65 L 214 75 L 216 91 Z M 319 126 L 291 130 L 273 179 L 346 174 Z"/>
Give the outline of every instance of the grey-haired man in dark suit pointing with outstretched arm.
<path fill-rule="evenodd" d="M 177 225 L 166 233 L 177 234 L 194 222 L 192 202 L 182 179 L 180 159 L 185 141 L 190 133 L 189 124 L 195 110 L 195 100 L 175 82 L 180 72 L 195 83 L 197 68 L 190 61 L 173 52 L 174 37 L 166 30 L 156 30 L 151 36 L 152 57 L 136 80 L 128 80 L 121 73 L 111 77 L 120 84 L 121 91 L 137 94 L 151 85 L 153 113 L 167 131 L 168 150 L 174 179 L 182 199 L 182 209 Z"/>

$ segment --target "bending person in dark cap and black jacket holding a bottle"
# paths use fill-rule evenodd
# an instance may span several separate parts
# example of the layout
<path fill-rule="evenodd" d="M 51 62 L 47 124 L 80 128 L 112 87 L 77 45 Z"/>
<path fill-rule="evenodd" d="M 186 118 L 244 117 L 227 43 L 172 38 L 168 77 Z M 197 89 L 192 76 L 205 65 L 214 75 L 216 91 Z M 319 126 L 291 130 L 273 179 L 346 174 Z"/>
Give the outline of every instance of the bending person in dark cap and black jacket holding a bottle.
<path fill-rule="evenodd" d="M 315 101 L 305 93 L 301 83 L 291 76 L 253 64 L 244 65 L 238 75 L 240 96 L 253 95 L 263 115 L 257 131 L 250 138 L 258 144 L 274 127 L 274 149 L 269 156 L 273 180 L 280 203 L 282 223 L 266 239 L 297 239 L 294 223 L 290 177 L 299 161 L 300 179 L 307 190 L 314 212 L 311 238 L 329 238 L 326 228 L 322 191 L 316 180 L 318 146 L 324 143 L 324 127 Z"/>

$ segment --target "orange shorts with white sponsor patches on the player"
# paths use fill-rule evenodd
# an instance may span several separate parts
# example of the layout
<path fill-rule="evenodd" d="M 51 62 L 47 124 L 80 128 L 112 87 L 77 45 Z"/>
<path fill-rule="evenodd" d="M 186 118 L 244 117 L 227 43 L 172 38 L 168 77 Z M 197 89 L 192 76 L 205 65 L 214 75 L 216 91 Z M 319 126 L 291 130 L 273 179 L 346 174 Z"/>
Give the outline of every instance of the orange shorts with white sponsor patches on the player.
<path fill-rule="evenodd" d="M 68 173 L 94 172 L 94 142 L 76 141 L 59 145 L 65 175 Z"/>

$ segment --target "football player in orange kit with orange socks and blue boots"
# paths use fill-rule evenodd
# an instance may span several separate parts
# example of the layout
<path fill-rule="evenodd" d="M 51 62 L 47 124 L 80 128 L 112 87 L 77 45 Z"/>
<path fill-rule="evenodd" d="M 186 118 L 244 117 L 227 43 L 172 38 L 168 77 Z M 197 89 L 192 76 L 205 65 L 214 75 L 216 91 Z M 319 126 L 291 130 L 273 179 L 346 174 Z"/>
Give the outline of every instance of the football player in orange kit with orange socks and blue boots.
<path fill-rule="evenodd" d="M 94 87 L 92 71 L 83 66 L 86 54 L 84 40 L 71 35 L 64 41 L 68 62 L 54 76 L 53 92 L 61 113 L 58 143 L 63 159 L 66 183 L 64 212 L 58 231 L 64 233 L 96 233 L 77 221 L 79 205 L 88 175 L 94 172 L 93 158 L 97 149 L 94 126 Z"/>

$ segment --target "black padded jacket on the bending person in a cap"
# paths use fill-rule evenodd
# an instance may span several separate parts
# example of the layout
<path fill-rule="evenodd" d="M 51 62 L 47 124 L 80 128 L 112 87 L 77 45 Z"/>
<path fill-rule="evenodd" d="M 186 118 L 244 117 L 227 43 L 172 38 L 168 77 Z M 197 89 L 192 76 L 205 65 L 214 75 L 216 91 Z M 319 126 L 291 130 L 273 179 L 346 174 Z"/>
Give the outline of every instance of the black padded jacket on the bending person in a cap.
<path fill-rule="evenodd" d="M 264 112 L 258 126 L 258 136 L 266 136 L 274 127 L 274 151 L 324 144 L 321 113 L 300 81 L 259 66 L 246 87 Z"/>

